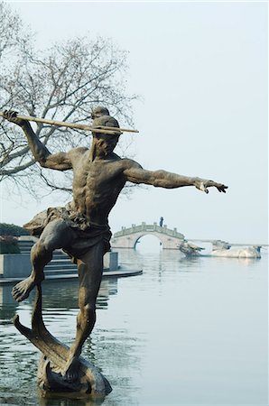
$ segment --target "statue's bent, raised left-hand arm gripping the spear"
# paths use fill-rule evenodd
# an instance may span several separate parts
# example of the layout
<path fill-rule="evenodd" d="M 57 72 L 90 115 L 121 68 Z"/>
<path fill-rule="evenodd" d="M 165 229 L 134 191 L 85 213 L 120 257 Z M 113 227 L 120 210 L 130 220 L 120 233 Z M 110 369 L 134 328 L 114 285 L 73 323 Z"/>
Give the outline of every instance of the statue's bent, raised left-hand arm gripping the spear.
<path fill-rule="evenodd" d="M 29 147 L 35 160 L 38 161 L 42 167 L 51 168 L 58 171 L 66 171 L 71 168 L 69 154 L 66 152 L 59 152 L 51 154 L 48 148 L 40 141 L 32 130 L 29 121 L 22 120 L 17 117 L 17 113 L 10 110 L 5 110 L 4 118 L 15 125 L 19 125 L 26 135 Z"/>

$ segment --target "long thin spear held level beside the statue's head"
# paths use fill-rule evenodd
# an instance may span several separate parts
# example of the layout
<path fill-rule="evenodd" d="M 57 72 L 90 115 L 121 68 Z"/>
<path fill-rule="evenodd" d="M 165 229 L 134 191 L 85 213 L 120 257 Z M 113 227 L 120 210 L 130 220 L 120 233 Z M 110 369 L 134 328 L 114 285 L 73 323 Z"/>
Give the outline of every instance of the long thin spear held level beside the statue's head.
<path fill-rule="evenodd" d="M 4 116 L 4 113 L 0 111 L 0 115 Z M 132 130 L 128 128 L 118 128 L 118 127 L 107 127 L 106 125 L 98 125 L 97 127 L 92 127 L 91 125 L 81 125 L 77 123 L 67 123 L 65 121 L 49 120 L 48 118 L 38 118 L 32 117 L 31 115 L 16 115 L 17 118 L 21 120 L 34 121 L 35 123 L 43 123 L 48 125 L 57 125 L 59 127 L 70 127 L 78 128 L 79 130 L 92 131 L 101 134 L 115 134 L 116 132 L 121 133 L 139 133 L 138 130 Z"/>

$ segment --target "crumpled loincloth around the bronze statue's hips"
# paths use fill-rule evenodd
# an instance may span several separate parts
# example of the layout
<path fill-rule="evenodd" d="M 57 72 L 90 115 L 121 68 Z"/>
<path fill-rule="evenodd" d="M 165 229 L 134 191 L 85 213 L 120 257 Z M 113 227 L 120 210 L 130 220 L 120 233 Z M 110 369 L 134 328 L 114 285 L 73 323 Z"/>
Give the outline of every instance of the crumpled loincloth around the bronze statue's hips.
<path fill-rule="evenodd" d="M 74 236 L 72 243 L 68 247 L 62 247 L 62 249 L 73 258 L 74 262 L 76 262 L 76 258 L 86 254 L 92 246 L 101 241 L 104 243 L 104 254 L 110 251 L 109 241 L 112 234 L 108 224 L 99 226 L 89 223 L 85 216 L 71 211 L 69 206 L 66 208 L 48 208 L 33 217 L 23 228 L 28 230 L 31 235 L 39 237 L 44 228 L 55 219 L 64 220 L 65 224 L 72 230 Z"/>

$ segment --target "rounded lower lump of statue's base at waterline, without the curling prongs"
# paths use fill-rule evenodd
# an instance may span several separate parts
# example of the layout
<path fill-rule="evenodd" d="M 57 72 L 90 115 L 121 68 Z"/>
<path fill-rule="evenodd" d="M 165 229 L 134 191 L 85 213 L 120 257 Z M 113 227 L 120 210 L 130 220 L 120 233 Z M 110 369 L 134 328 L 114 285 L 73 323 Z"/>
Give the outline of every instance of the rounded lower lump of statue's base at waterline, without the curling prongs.
<path fill-rule="evenodd" d="M 79 357 L 79 374 L 74 382 L 69 382 L 60 373 L 57 365 L 42 355 L 37 380 L 39 387 L 45 392 L 79 392 L 91 396 L 106 396 L 112 391 L 110 384 L 94 364 Z"/>

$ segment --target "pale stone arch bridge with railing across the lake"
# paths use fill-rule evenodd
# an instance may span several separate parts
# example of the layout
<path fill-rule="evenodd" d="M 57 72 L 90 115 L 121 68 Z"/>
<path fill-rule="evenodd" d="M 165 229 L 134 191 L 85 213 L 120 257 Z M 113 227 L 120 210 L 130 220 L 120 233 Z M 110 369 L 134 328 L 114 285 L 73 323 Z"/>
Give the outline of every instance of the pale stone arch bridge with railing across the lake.
<path fill-rule="evenodd" d="M 179 233 L 176 228 L 172 230 L 167 226 L 158 226 L 157 223 L 149 225 L 142 223 L 140 226 L 133 224 L 129 228 L 122 227 L 111 238 L 112 248 L 133 248 L 144 235 L 155 235 L 162 243 L 162 248 L 166 250 L 178 250 L 178 245 L 184 239 L 184 235 Z"/>

